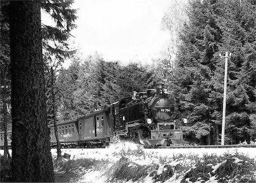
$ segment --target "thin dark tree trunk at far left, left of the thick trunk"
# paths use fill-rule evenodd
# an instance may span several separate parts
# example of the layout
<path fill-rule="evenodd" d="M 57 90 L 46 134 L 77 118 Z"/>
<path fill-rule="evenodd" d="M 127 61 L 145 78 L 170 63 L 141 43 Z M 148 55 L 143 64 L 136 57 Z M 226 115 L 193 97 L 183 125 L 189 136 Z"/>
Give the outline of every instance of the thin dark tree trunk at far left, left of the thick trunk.
<path fill-rule="evenodd" d="M 7 102 L 6 102 L 6 84 L 4 82 L 3 88 L 3 105 L 4 105 L 4 156 L 10 159 L 10 153 L 8 150 L 8 141 L 7 141 Z"/>

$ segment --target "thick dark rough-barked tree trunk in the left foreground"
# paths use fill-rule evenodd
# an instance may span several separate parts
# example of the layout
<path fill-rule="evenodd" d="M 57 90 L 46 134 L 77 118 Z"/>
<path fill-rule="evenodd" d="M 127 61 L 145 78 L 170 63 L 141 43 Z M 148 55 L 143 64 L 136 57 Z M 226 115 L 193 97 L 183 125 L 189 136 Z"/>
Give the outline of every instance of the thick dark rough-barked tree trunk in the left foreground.
<path fill-rule="evenodd" d="M 12 181 L 53 182 L 40 1 L 10 1 Z"/>

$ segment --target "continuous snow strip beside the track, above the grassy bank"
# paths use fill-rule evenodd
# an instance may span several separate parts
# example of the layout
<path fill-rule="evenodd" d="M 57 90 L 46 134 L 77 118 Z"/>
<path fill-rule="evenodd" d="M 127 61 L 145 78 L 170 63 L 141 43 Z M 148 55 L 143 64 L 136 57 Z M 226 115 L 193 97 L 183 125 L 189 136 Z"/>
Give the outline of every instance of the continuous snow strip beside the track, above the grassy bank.
<path fill-rule="evenodd" d="M 134 143 L 117 143 L 111 144 L 106 148 L 69 148 L 69 149 L 61 149 L 62 154 L 68 153 L 70 154 L 70 159 L 80 159 L 80 158 L 90 158 L 95 160 L 108 159 L 116 161 L 119 157 L 123 155 L 129 154 L 131 151 L 137 151 L 140 148 L 137 144 Z M 144 149 L 141 147 L 141 153 L 145 153 L 144 156 L 134 156 L 131 154 L 129 158 L 135 160 L 138 164 L 148 164 L 154 161 L 154 159 L 159 159 L 159 157 L 173 157 L 178 154 L 183 155 L 198 155 L 202 157 L 204 154 L 216 154 L 222 155 L 225 153 L 235 154 L 235 153 L 243 153 L 244 155 L 248 155 L 249 157 L 256 159 L 255 154 L 256 148 L 247 148 L 247 147 L 239 147 L 239 148 L 158 148 L 158 149 Z M 57 156 L 57 149 L 52 149 L 51 153 L 54 156 Z M 138 151 L 138 154 L 140 152 Z M 144 159 L 145 157 L 145 159 Z M 150 157 L 150 159 L 147 159 Z"/>

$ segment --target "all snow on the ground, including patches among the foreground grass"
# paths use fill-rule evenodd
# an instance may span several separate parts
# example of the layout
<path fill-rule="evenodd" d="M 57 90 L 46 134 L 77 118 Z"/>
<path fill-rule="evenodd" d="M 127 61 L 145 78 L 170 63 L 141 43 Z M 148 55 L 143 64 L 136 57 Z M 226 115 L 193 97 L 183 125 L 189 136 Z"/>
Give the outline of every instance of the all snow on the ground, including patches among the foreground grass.
<path fill-rule="evenodd" d="M 78 159 L 94 159 L 94 160 L 107 160 L 109 164 L 100 164 L 100 168 L 90 168 L 82 171 L 82 176 L 78 182 L 107 182 L 108 172 L 111 166 L 115 165 L 121 157 L 127 157 L 129 162 L 139 165 L 158 164 L 159 168 L 156 175 L 163 173 L 164 163 L 170 164 L 172 167 L 176 167 L 179 164 L 191 166 L 193 164 L 193 158 L 191 156 L 203 157 L 203 155 L 225 155 L 225 154 L 244 154 L 252 159 L 256 159 L 256 148 L 158 148 L 158 149 L 145 149 L 140 145 L 130 142 L 118 142 L 111 144 L 106 148 L 69 148 L 61 149 L 61 154 L 70 154 L 71 160 Z M 3 155 L 4 151 L 0 150 L 0 154 Z M 53 159 L 57 157 L 57 149 L 51 149 Z M 10 150 L 11 154 L 11 150 Z M 179 155 L 182 154 L 181 158 Z M 189 157 L 190 156 L 190 157 Z M 189 158 L 187 158 L 189 157 Z M 235 159 L 235 163 L 240 163 L 241 160 Z M 102 161 L 103 162 L 103 161 Z M 164 162 L 164 163 L 163 163 Z M 132 164 L 131 164 L 132 165 Z M 212 166 L 213 171 L 216 171 L 220 164 Z M 193 166 L 191 167 L 193 168 Z M 183 176 L 174 172 L 174 175 L 165 182 L 180 182 Z M 215 182 L 217 177 L 213 176 L 206 182 Z M 200 182 L 201 180 L 198 180 Z M 118 181 L 124 182 L 124 181 Z M 133 182 L 133 181 L 127 181 Z M 139 181 L 140 182 L 140 181 Z M 149 175 L 145 177 L 142 182 L 154 182 L 153 177 Z"/>

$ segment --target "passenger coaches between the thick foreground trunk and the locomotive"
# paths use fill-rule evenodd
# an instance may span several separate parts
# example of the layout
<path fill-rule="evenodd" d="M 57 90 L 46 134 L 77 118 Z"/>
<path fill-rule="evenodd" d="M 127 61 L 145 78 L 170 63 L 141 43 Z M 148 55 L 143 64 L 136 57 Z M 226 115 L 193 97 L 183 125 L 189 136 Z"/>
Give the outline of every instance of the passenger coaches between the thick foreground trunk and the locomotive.
<path fill-rule="evenodd" d="M 103 147 L 109 144 L 113 136 L 113 120 L 109 119 L 109 107 L 95 111 L 85 117 L 57 123 L 57 131 L 62 147 Z M 57 146 L 54 125 L 51 131 L 51 145 Z"/>

